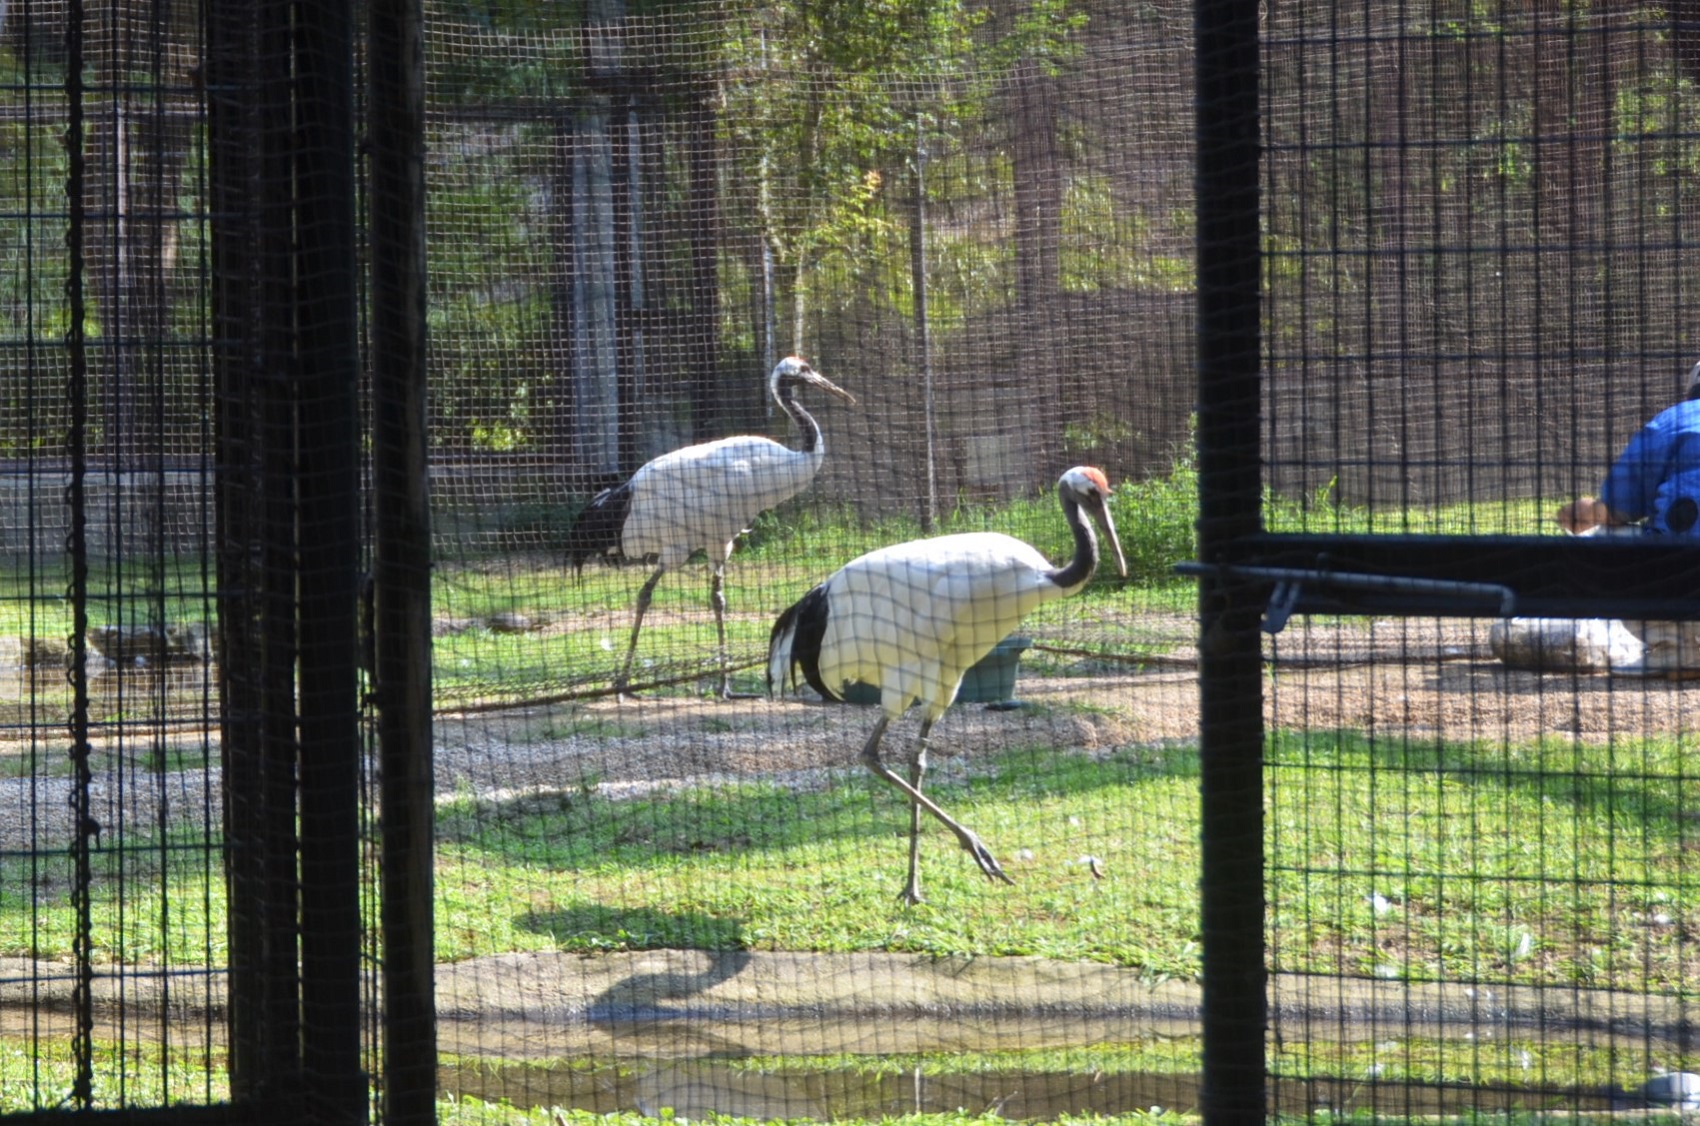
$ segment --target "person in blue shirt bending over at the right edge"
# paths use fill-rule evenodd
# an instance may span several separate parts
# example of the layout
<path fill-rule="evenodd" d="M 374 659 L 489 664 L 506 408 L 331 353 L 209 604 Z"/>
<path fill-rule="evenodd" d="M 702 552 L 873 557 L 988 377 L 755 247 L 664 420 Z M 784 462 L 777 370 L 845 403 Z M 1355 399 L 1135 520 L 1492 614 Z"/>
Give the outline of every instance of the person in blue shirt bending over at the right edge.
<path fill-rule="evenodd" d="M 1700 364 L 1688 371 L 1686 398 L 1629 439 L 1600 495 L 1559 509 L 1559 527 L 1576 536 L 1685 536 L 1700 546 Z M 1646 672 L 1700 672 L 1700 623 L 1624 624 L 1644 643 Z"/>

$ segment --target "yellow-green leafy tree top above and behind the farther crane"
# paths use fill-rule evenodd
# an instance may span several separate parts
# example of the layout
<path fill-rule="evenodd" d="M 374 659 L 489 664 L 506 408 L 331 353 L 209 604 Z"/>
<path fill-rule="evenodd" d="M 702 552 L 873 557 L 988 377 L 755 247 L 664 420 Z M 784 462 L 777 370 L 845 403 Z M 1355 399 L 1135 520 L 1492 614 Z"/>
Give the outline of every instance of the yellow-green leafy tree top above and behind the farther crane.
<path fill-rule="evenodd" d="M 887 173 L 983 114 L 1017 60 L 1064 58 L 1080 26 L 1059 0 L 1030 5 L 1000 36 L 959 0 L 779 3 L 733 24 L 721 121 L 755 191 L 731 202 L 782 267 L 794 333 L 811 272 L 831 293 L 840 270 L 904 259 L 881 202 Z M 870 245 L 884 255 L 860 253 Z"/>

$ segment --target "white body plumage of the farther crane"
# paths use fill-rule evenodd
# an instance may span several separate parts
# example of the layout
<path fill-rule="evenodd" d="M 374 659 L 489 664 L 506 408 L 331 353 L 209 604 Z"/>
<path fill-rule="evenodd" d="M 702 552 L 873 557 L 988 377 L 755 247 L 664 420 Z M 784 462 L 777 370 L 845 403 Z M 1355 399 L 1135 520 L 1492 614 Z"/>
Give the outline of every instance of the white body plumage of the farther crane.
<path fill-rule="evenodd" d="M 802 451 L 755 434 L 661 454 L 631 478 L 619 553 L 678 566 L 700 549 L 724 565 L 750 522 L 808 488 L 824 458 L 824 441 Z"/>

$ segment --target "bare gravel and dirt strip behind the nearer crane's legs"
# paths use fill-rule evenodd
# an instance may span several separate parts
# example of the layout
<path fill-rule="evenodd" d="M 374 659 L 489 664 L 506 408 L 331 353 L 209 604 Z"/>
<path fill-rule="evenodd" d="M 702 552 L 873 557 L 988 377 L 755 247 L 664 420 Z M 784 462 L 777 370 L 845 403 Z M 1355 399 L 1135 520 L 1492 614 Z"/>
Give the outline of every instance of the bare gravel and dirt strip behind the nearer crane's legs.
<path fill-rule="evenodd" d="M 1294 623 L 1265 638 L 1263 716 L 1270 728 L 1352 728 L 1447 742 L 1525 742 L 1538 735 L 1634 738 L 1686 730 L 1700 682 L 1510 668 L 1489 650 L 1489 619 Z M 1198 738 L 1198 670 L 1190 619 L 1168 623 L 1163 657 L 1090 672 L 1039 675 L 1066 643 L 1035 641 L 1013 709 L 959 702 L 933 728 L 935 771 L 969 769 L 1005 750 L 1112 754 Z M 1046 653 L 1046 648 L 1051 653 Z M 775 776 L 809 786 L 858 769 L 874 706 L 712 699 L 639 692 L 546 708 L 437 718 L 439 793 L 513 798 L 597 786 L 610 796 L 692 782 Z M 882 754 L 903 764 L 911 713 Z"/>

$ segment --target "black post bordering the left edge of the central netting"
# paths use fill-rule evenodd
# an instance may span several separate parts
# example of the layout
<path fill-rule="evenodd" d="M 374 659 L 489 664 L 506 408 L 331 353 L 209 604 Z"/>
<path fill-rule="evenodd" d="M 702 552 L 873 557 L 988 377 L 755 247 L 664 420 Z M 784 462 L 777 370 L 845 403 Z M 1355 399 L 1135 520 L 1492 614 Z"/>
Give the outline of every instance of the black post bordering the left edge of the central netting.
<path fill-rule="evenodd" d="M 425 36 L 372 0 L 369 228 L 376 699 L 382 774 L 382 1121 L 437 1114 L 432 963 L 430 503 L 425 429 Z"/>

